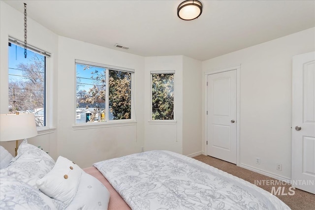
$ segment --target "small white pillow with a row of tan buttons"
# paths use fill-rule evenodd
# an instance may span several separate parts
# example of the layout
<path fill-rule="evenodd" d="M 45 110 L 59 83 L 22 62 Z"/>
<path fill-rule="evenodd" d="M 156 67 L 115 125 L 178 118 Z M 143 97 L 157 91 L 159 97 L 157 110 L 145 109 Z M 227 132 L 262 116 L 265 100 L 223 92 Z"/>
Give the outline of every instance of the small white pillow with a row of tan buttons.
<path fill-rule="evenodd" d="M 74 198 L 83 170 L 63 156 L 59 156 L 54 168 L 42 179 L 37 187 L 51 198 L 68 205 Z"/>

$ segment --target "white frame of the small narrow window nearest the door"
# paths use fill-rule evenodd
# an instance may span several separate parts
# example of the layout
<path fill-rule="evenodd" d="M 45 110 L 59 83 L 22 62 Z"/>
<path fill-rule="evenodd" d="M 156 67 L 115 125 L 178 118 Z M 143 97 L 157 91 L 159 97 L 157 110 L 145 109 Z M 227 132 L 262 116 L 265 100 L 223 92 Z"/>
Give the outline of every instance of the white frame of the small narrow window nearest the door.
<path fill-rule="evenodd" d="M 173 94 L 174 94 L 174 118 L 173 120 L 153 120 L 152 119 L 152 75 L 153 74 L 173 74 L 174 75 L 174 90 L 173 90 Z M 149 120 L 149 124 L 176 124 L 177 123 L 177 120 L 176 120 L 176 111 L 175 111 L 175 97 L 176 97 L 176 94 L 175 94 L 175 70 L 164 70 L 164 71 L 150 71 L 150 120 Z"/>

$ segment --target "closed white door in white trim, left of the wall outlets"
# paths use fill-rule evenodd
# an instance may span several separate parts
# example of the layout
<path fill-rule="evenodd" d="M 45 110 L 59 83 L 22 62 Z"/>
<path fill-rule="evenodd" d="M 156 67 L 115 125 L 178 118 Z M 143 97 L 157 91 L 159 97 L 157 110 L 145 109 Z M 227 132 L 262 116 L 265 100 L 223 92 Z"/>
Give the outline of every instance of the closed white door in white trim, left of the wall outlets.
<path fill-rule="evenodd" d="M 237 71 L 207 76 L 208 155 L 236 164 Z"/>

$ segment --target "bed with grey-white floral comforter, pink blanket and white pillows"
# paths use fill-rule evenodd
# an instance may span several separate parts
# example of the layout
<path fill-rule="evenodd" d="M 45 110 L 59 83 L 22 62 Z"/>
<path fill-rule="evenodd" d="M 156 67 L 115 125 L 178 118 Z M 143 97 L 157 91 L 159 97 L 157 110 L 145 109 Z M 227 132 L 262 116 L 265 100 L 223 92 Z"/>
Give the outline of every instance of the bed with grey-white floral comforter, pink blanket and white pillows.
<path fill-rule="evenodd" d="M 287 210 L 269 192 L 190 157 L 155 150 L 81 169 L 23 141 L 0 169 L 0 209 Z"/>

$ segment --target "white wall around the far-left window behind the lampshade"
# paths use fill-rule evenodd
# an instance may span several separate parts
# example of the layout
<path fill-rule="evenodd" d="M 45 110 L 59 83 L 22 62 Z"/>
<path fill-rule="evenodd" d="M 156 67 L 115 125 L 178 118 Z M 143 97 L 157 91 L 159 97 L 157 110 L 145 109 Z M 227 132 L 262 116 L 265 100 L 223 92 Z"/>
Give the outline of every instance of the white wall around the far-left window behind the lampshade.
<path fill-rule="evenodd" d="M 57 66 L 58 66 L 58 35 L 28 18 L 28 43 L 52 54 L 49 59 L 47 74 L 49 75 L 47 91 L 50 95 L 48 114 L 51 115 L 49 126 L 57 122 Z M 8 113 L 8 36 L 24 41 L 24 15 L 3 1 L 0 1 L 0 114 Z M 17 128 L 18 131 L 18 128 Z M 29 142 L 41 146 L 57 157 L 57 131 L 41 130 L 39 135 L 30 138 Z M 1 142 L 1 145 L 14 154 L 15 142 Z"/>

